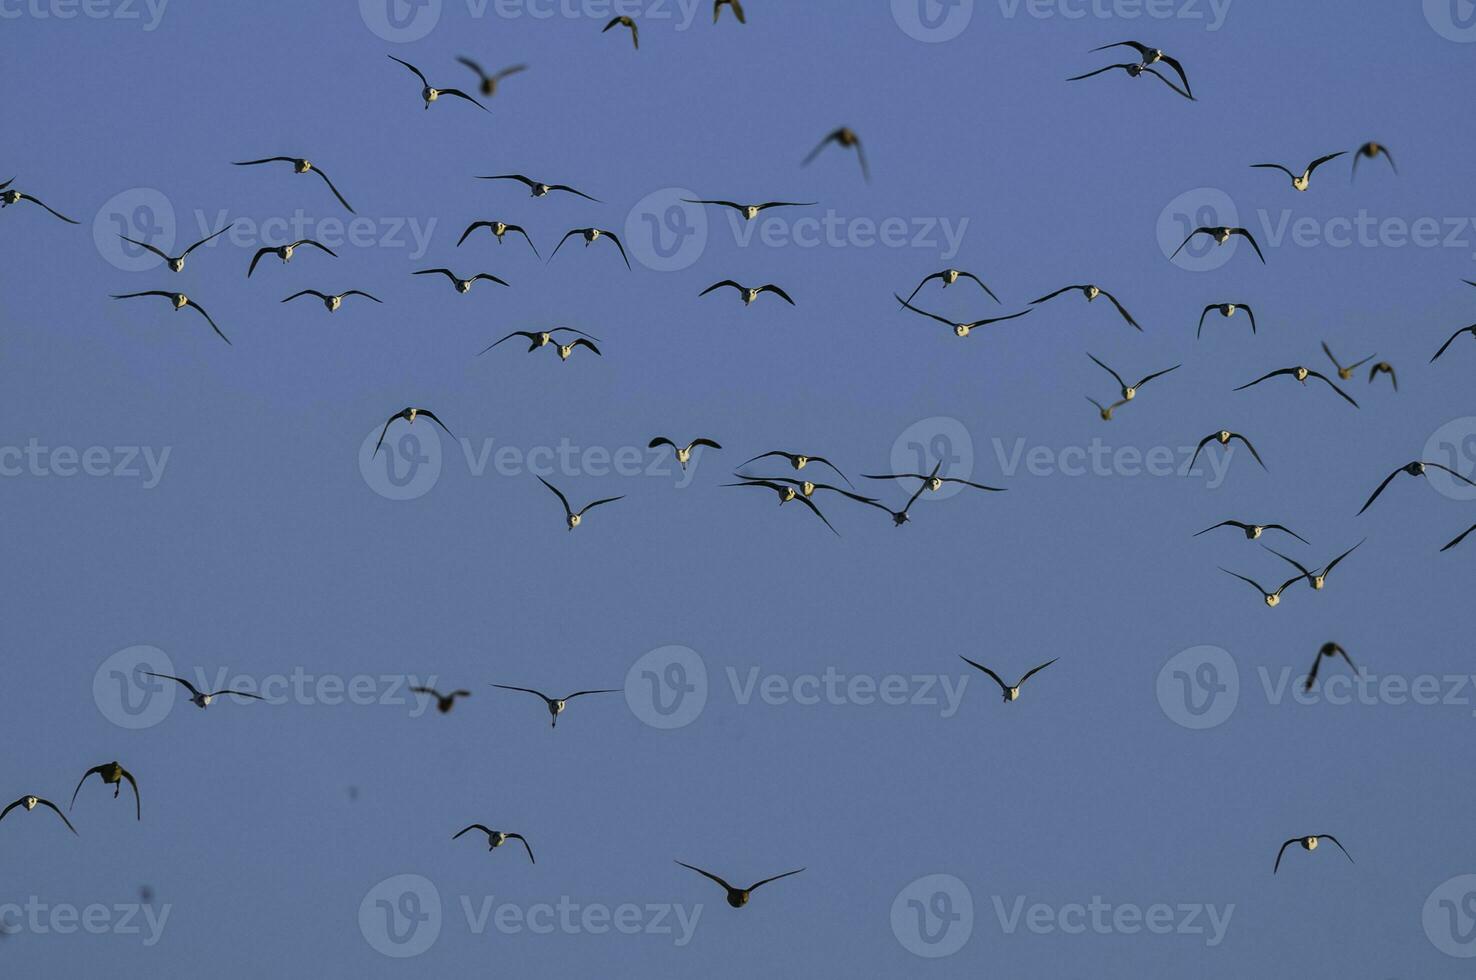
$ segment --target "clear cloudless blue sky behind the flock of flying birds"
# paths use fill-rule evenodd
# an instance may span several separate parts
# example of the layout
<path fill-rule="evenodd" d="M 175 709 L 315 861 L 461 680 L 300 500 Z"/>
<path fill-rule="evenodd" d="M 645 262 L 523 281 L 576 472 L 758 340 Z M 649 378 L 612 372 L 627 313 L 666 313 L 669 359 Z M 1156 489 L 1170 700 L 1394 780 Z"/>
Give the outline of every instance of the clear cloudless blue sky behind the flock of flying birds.
<path fill-rule="evenodd" d="M 0 796 L 65 804 L 87 767 L 112 759 L 143 790 L 137 824 L 111 787 L 84 788 L 80 838 L 47 813 L 10 813 L 0 902 L 114 906 L 148 886 L 170 906 L 152 946 L 22 928 L 0 940 L 6 976 L 1464 976 L 1421 909 L 1476 872 L 1464 765 L 1476 694 L 1274 703 L 1261 672 L 1274 685 L 1290 669 L 1294 685 L 1337 641 L 1377 676 L 1472 673 L 1463 610 L 1476 546 L 1438 549 L 1476 508 L 1402 477 L 1355 514 L 1432 434 L 1472 415 L 1476 344 L 1427 360 L 1476 306 L 1461 283 L 1476 279 L 1476 46 L 1442 35 L 1418 3 L 1342 0 L 1235 0 L 1219 30 L 1204 3 L 1190 7 L 1199 18 L 1134 19 L 990 0 L 946 43 L 909 35 L 886 3 L 748 0 L 747 27 L 667 6 L 641 18 L 639 52 L 577 6 L 477 16 L 447 0 L 410 43 L 376 34 L 356 6 L 176 0 L 151 31 L 142 4 L 140 22 L 0 3 L 0 177 L 15 173 L 18 189 L 81 221 L 30 204 L 0 213 L 0 444 L 170 452 L 152 489 L 28 468 L 0 480 Z M 1125 38 L 1181 58 L 1199 102 L 1122 72 L 1064 81 L 1128 61 L 1088 53 Z M 466 89 L 475 78 L 458 55 L 530 68 L 490 114 L 456 100 L 422 111 L 418 83 L 387 55 Z M 800 167 L 841 124 L 865 142 L 869 184 L 837 148 Z M 1371 139 L 1392 148 L 1398 176 L 1364 161 L 1351 182 L 1342 158 L 1299 195 L 1249 167 L 1300 168 Z M 261 244 L 249 226 L 298 210 L 308 230 L 348 217 L 313 177 L 230 165 L 277 153 L 320 164 L 376 238 L 434 220 L 428 249 L 401 233 L 401 245 L 344 245 L 337 260 L 266 260 L 248 280 Z M 474 180 L 509 171 L 602 202 Z M 695 261 L 657 272 L 627 215 L 672 187 L 819 202 L 769 213 L 775 235 L 828 213 L 853 232 L 886 218 L 967 218 L 967 230 L 956 257 L 936 232 L 902 246 L 744 245 L 708 210 Z M 1160 215 L 1201 187 L 1235 202 L 1265 266 L 1246 248 L 1204 272 L 1168 261 Z M 202 236 L 196 213 L 248 230 L 177 276 L 121 269 L 111 215 L 151 199 L 137 189 L 170 202 L 177 248 Z M 1435 218 L 1441 239 L 1460 221 L 1460 241 L 1263 233 L 1286 215 L 1336 239 L 1336 220 L 1359 213 Z M 486 232 L 455 248 L 474 218 L 524 224 L 545 258 L 567 229 L 598 224 L 621 235 L 635 270 L 604 242 L 570 242 L 548 264 Z M 511 288 L 462 297 L 410 276 L 435 266 Z M 1075 295 L 958 339 L 892 300 L 946 266 L 980 275 L 1002 304 L 934 282 L 924 308 L 996 316 L 1095 282 L 1144 332 Z M 697 298 L 726 277 L 776 282 L 799 306 Z M 156 288 L 196 298 L 233 347 L 162 300 L 109 300 Z M 304 288 L 360 288 L 384 306 L 350 300 L 329 316 L 279 304 Z M 1258 335 L 1215 316 L 1196 341 L 1200 310 L 1227 300 L 1252 304 Z M 559 363 L 512 342 L 475 356 L 508 331 L 559 323 L 599 337 L 604 357 Z M 1359 410 L 1289 379 L 1232 393 L 1277 368 L 1330 370 L 1322 339 L 1345 360 L 1392 362 L 1398 394 L 1362 372 L 1345 385 Z M 1113 385 L 1086 351 L 1125 375 L 1184 368 L 1104 424 L 1083 396 L 1107 400 Z M 530 472 L 475 475 L 449 438 L 428 493 L 376 493 L 362 443 L 406 404 L 474 449 L 568 440 L 613 453 L 652 435 L 725 449 L 700 459 L 689 486 L 669 465 L 555 474 L 576 505 L 626 494 L 570 534 Z M 894 443 L 931 418 L 971 438 L 953 472 L 1008 491 L 924 499 L 902 528 L 818 497 L 835 537 L 800 505 L 719 486 L 770 449 L 824 455 L 869 483 L 859 474 L 886 472 Z M 1221 427 L 1250 435 L 1269 472 L 1243 452 L 1213 489 L 1203 474 L 1008 466 L 1020 440 L 1069 460 L 1098 438 L 1178 453 Z M 1469 438 L 1476 421 L 1448 431 Z M 387 446 L 399 452 L 396 431 Z M 1470 472 L 1470 455 L 1457 462 Z M 869 491 L 893 508 L 905 499 L 890 484 Z M 1216 565 L 1280 583 L 1284 562 L 1234 531 L 1191 537 L 1225 518 L 1286 522 L 1312 545 L 1266 540 L 1309 562 L 1368 540 L 1327 590 L 1299 584 L 1268 610 Z M 93 679 L 140 643 L 202 682 L 217 670 L 242 683 L 409 674 L 474 695 L 449 716 L 384 685 L 400 704 L 308 695 L 202 713 L 180 700 L 127 731 Z M 708 676 L 706 708 L 676 731 L 645 725 L 620 695 L 576 701 L 549 731 L 537 701 L 489 686 L 620 688 L 670 643 L 697 651 Z M 1169 658 L 1197 645 L 1228 651 L 1240 676 L 1235 710 L 1209 731 L 1175 723 L 1157 697 Z M 961 654 L 1011 677 L 1060 663 L 1005 705 Z M 951 717 L 937 705 L 742 704 L 729 669 L 742 680 L 754 667 L 967 688 Z M 474 821 L 527 834 L 537 865 L 450 840 Z M 1311 832 L 1336 834 L 1356 863 L 1296 850 L 1272 877 L 1281 841 Z M 807 871 L 735 911 L 673 859 L 739 884 Z M 400 874 L 434 883 L 446 906 L 438 939 L 409 961 L 376 952 L 359 921 L 366 893 Z M 914 956 L 892 927 L 893 900 L 928 874 L 955 875 L 974 902 L 973 933 L 949 958 Z M 703 912 L 680 948 L 660 934 L 478 936 L 462 896 Z M 1094 896 L 1234 914 L 1209 946 L 1194 934 L 1011 934 L 995 912 L 996 899 L 1058 909 Z"/>

